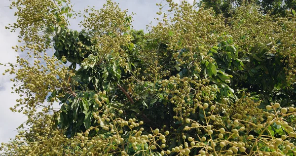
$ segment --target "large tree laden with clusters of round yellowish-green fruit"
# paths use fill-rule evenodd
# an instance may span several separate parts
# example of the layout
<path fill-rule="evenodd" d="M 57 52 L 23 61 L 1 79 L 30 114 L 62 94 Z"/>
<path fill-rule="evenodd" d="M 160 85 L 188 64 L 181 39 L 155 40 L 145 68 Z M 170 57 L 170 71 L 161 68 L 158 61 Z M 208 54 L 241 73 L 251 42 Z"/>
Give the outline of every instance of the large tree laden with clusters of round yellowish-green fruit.
<path fill-rule="evenodd" d="M 3 64 L 10 67 L 3 74 L 14 75 L 20 95 L 11 111 L 28 120 L 0 150 L 296 155 L 296 12 L 229 2 L 239 4 L 231 17 L 211 3 L 162 1 L 145 33 L 112 0 L 82 13 L 70 0 L 12 1 L 17 21 L 6 29 L 20 30 L 22 45 L 12 48 L 27 57 Z M 84 18 L 81 31 L 69 29 L 75 16 Z"/>

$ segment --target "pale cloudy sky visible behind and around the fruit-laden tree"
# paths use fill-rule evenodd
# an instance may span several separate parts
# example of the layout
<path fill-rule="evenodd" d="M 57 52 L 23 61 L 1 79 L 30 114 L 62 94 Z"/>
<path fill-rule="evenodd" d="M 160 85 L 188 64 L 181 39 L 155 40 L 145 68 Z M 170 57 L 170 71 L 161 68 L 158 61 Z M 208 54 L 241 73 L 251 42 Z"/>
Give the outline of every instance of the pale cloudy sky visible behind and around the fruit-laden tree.
<path fill-rule="evenodd" d="M 96 8 L 101 8 L 105 0 L 71 0 L 74 4 L 73 9 L 75 11 L 81 10 L 87 6 L 95 6 Z M 128 13 L 136 13 L 133 16 L 134 22 L 132 23 L 134 29 L 146 30 L 146 25 L 151 21 L 155 21 L 154 18 L 158 17 L 156 12 L 159 10 L 156 3 L 160 3 L 162 0 L 114 0 L 119 2 L 121 9 L 128 9 Z M 174 0 L 180 2 L 181 0 Z M 193 0 L 187 0 L 190 3 Z M 10 0 L 0 0 L 0 63 L 15 63 L 17 56 L 22 56 L 19 52 L 15 52 L 11 47 L 15 46 L 18 43 L 18 32 L 10 33 L 9 30 L 5 30 L 5 26 L 9 23 L 12 24 L 16 21 L 14 17 L 14 10 L 8 8 Z M 71 28 L 74 30 L 80 30 L 78 23 L 82 19 L 75 19 L 71 21 Z M 23 123 L 27 117 L 22 113 L 13 113 L 9 110 L 10 107 L 13 107 L 16 102 L 15 100 L 19 98 L 17 94 L 12 94 L 11 87 L 13 82 L 10 81 L 10 78 L 13 76 L 5 75 L 2 73 L 7 67 L 0 66 L 0 142 L 8 142 L 9 138 L 14 138 L 17 134 L 15 130 L 21 123 Z"/>

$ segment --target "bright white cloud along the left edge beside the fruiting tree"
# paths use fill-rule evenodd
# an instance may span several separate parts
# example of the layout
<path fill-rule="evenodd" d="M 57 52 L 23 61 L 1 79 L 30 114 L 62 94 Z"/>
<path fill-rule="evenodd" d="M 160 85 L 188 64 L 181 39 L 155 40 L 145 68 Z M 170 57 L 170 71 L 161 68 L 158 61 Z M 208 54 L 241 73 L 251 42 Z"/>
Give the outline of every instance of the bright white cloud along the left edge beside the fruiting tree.
<path fill-rule="evenodd" d="M 4 28 L 15 20 L 13 11 L 7 7 L 9 3 L 8 0 L 0 2 L 0 63 L 14 63 L 16 56 L 18 56 L 18 53 L 11 48 L 18 43 L 17 33 L 10 33 Z M 11 94 L 13 82 L 10 81 L 10 78 L 12 77 L 2 75 L 7 68 L 0 66 L 0 142 L 7 142 L 9 138 L 14 137 L 17 134 L 16 127 L 25 121 L 23 114 L 13 113 L 9 110 L 9 107 L 16 104 L 15 100 L 18 95 Z"/>

